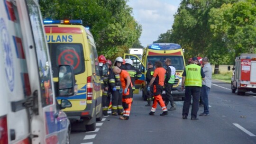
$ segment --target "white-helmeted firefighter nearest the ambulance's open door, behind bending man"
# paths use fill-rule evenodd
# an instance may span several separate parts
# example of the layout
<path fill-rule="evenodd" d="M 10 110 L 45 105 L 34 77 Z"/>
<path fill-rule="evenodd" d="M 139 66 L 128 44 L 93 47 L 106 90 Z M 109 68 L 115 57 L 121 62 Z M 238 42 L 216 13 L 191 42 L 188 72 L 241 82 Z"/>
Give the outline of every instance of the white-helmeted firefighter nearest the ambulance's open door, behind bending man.
<path fill-rule="evenodd" d="M 132 90 L 130 91 L 130 94 L 131 97 L 133 98 L 133 90 L 135 90 L 135 80 L 139 79 L 142 76 L 142 73 L 133 66 L 131 59 L 126 59 L 124 70 L 126 70 L 129 73 L 131 78 L 133 86 Z"/>

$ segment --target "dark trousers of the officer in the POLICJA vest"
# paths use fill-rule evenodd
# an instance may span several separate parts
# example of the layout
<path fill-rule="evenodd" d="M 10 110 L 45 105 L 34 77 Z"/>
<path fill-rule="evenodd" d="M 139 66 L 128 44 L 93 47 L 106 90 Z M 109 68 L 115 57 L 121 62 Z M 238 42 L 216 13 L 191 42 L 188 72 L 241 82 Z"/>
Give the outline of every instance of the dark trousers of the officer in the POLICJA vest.
<path fill-rule="evenodd" d="M 198 87 L 198 86 L 186 86 L 185 99 L 183 104 L 183 113 L 182 113 L 183 116 L 188 116 L 191 98 L 193 99 L 191 117 L 197 116 L 197 112 L 199 109 L 198 106 L 199 106 L 199 99 L 200 99 L 200 90 L 201 90 L 201 87 Z"/>

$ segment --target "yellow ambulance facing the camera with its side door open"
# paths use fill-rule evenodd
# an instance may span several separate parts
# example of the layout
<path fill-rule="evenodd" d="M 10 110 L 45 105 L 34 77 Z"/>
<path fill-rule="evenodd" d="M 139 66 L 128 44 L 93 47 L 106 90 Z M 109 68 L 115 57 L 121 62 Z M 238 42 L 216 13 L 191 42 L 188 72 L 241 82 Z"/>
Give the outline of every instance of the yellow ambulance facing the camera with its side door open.
<path fill-rule="evenodd" d="M 142 90 L 142 97 L 146 100 L 146 70 L 147 63 L 155 63 L 155 61 L 161 61 L 163 63 L 163 67 L 166 69 L 165 59 L 171 59 L 171 65 L 175 67 L 175 81 L 173 86 L 173 95 L 174 97 L 184 98 L 184 91 L 181 89 L 181 81 L 182 81 L 182 73 L 185 69 L 185 61 L 183 55 L 183 49 L 181 45 L 173 44 L 173 43 L 155 43 L 147 45 L 146 48 L 143 49 L 142 59 L 135 54 L 124 54 L 124 58 L 130 58 L 134 61 L 141 61 L 141 64 L 135 66 L 139 71 L 142 72 L 142 77 L 135 81 L 136 89 Z M 163 95 L 165 95 L 165 90 L 163 91 Z"/>

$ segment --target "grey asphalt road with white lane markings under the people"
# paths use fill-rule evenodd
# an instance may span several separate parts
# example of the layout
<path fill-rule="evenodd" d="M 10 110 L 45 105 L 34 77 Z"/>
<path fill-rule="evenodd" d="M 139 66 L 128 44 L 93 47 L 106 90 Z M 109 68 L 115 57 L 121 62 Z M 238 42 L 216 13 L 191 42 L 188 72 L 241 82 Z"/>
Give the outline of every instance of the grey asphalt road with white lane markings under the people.
<path fill-rule="evenodd" d="M 141 94 L 134 95 L 129 120 L 104 117 L 96 131 L 71 133 L 71 144 L 256 144 L 256 94 L 238 96 L 230 84 L 213 81 L 209 94 L 210 116 L 182 119 L 183 101 L 177 109 L 149 116 Z M 170 105 L 168 106 L 170 108 Z M 191 112 L 191 108 L 190 108 Z M 203 112 L 199 108 L 198 115 Z"/>

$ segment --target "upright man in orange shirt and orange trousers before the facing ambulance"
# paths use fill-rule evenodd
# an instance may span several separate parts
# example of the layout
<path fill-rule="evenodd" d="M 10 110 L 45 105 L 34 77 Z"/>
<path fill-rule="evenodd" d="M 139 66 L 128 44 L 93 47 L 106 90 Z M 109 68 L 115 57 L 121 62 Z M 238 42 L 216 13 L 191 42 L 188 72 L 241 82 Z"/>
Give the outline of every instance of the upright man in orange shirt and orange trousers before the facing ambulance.
<path fill-rule="evenodd" d="M 151 111 L 149 112 L 149 115 L 151 115 L 151 116 L 155 115 L 155 109 L 156 109 L 158 103 L 163 110 L 163 113 L 160 114 L 160 116 L 168 115 L 167 108 L 165 107 L 165 103 L 162 99 L 162 92 L 164 89 L 164 81 L 165 81 L 165 72 L 166 71 L 163 68 L 162 62 L 156 61 L 153 77 L 147 86 L 147 91 L 150 91 L 150 86 L 153 84 L 153 92 L 154 92 L 154 97 L 155 97 Z"/>

